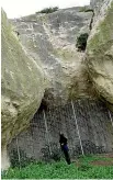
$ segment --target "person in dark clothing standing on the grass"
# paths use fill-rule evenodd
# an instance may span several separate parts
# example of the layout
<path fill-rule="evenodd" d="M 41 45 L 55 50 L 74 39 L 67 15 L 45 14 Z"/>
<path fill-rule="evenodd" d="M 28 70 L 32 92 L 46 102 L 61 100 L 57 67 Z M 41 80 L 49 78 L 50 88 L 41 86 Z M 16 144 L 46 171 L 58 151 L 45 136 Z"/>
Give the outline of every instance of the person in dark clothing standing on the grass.
<path fill-rule="evenodd" d="M 65 159 L 68 165 L 70 165 L 70 157 L 69 157 L 69 149 L 67 146 L 67 138 L 64 136 L 64 134 L 59 134 L 59 143 L 60 143 L 60 148 L 64 151 Z"/>

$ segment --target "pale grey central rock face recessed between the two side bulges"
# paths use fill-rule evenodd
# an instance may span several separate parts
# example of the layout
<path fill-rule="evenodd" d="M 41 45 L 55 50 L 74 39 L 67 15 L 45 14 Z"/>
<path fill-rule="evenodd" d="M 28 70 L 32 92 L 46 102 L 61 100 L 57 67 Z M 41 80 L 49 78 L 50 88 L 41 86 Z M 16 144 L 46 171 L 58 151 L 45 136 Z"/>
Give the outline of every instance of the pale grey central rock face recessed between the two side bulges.
<path fill-rule="evenodd" d="M 49 81 L 45 92 L 49 104 L 58 104 L 59 100 L 66 103 L 71 95 L 79 98 L 91 93 L 83 64 L 84 53 L 76 47 L 77 37 L 89 34 L 91 18 L 92 12 L 70 8 L 12 20 L 29 55 L 35 61 L 41 58 Z"/>

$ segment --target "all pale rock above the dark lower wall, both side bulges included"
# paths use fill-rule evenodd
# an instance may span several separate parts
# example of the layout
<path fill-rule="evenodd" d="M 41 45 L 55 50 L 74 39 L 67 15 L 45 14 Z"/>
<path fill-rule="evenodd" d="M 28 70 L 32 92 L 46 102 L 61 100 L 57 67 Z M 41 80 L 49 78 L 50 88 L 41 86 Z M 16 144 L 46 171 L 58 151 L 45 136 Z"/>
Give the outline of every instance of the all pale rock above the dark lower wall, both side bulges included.
<path fill-rule="evenodd" d="M 113 108 L 113 0 L 91 7 L 94 13 L 70 8 L 11 20 L 14 27 L 2 11 L 2 169 L 9 167 L 7 144 L 29 126 L 42 99 L 65 106 L 97 91 Z M 89 36 L 87 54 L 77 47 L 80 36 Z"/>

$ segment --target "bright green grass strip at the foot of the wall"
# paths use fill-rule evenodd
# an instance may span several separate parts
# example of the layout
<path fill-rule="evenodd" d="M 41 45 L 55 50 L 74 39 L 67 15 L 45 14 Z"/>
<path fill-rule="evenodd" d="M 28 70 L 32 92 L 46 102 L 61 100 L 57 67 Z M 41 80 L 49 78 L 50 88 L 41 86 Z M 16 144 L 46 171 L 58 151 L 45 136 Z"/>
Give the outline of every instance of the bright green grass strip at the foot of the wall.
<path fill-rule="evenodd" d="M 59 162 L 30 164 L 25 168 L 10 168 L 2 175 L 2 179 L 113 179 L 113 166 L 100 167 L 90 162 L 93 160 L 111 160 L 110 158 L 89 156 L 80 157 L 79 166 L 76 162 L 67 165 L 64 160 Z"/>

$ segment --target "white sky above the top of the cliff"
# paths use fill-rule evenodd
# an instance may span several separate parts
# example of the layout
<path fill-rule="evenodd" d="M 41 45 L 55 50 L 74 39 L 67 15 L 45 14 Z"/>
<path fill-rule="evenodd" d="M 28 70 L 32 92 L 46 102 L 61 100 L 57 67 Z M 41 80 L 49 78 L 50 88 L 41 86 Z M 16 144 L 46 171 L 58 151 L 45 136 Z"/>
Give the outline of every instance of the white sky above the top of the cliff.
<path fill-rule="evenodd" d="M 1 0 L 1 7 L 9 19 L 33 14 L 48 7 L 60 9 L 89 4 L 90 0 Z"/>

